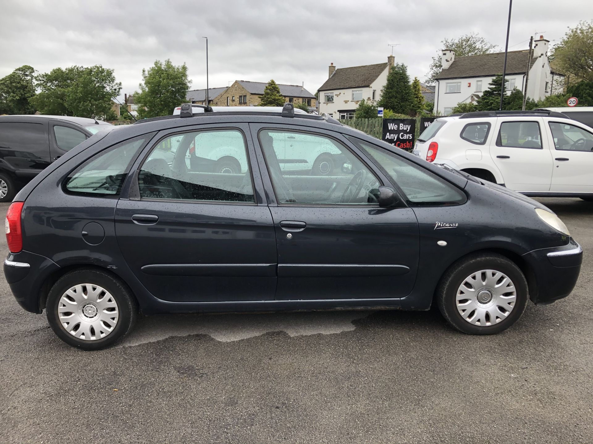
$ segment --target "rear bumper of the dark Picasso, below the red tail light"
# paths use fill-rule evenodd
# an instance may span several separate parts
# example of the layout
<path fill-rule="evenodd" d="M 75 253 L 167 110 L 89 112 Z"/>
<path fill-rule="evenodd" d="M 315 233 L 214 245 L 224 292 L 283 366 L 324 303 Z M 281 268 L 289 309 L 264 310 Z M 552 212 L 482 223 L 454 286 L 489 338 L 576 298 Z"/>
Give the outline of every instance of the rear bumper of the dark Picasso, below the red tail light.
<path fill-rule="evenodd" d="M 17 300 L 25 310 L 41 313 L 43 283 L 60 267 L 44 256 L 27 251 L 9 253 L 4 260 L 4 276 Z"/>

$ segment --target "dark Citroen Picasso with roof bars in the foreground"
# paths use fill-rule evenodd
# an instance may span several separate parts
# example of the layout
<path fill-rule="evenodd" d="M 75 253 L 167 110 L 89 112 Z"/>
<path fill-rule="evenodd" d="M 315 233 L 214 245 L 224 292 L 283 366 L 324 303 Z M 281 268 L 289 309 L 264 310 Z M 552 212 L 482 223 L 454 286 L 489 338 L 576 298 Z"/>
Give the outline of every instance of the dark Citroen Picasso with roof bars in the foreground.
<path fill-rule="evenodd" d="M 95 134 L 12 202 L 7 281 L 70 345 L 105 348 L 138 313 L 432 303 L 492 334 L 579 276 L 581 247 L 528 197 L 291 104 L 191 109 Z M 331 174 L 305 168 L 320 148 Z M 213 149 L 237 171 L 213 172 Z"/>

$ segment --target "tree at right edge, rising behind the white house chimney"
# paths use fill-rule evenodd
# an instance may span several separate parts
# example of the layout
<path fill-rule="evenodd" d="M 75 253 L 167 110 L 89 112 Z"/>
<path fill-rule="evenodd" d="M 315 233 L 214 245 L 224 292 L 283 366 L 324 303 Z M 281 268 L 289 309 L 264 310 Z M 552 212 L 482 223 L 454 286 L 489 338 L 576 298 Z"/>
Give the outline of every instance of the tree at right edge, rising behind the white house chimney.
<path fill-rule="evenodd" d="M 593 20 L 581 21 L 574 28 L 569 28 L 560 43 L 554 46 L 550 59 L 561 72 L 592 82 Z"/>

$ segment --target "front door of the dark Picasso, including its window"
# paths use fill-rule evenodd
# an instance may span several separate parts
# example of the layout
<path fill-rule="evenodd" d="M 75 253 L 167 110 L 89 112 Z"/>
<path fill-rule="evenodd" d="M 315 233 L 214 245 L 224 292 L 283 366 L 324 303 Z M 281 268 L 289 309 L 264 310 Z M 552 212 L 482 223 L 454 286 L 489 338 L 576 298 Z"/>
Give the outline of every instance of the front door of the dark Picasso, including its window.
<path fill-rule="evenodd" d="M 416 217 L 407 207 L 378 206 L 386 179 L 338 133 L 250 124 L 261 152 L 278 244 L 278 300 L 401 298 L 412 291 L 419 256 Z M 285 136 L 285 137 L 282 137 Z M 330 147 L 340 165 L 330 175 L 284 169 L 276 141 Z M 297 151 L 297 149 L 295 149 Z"/>

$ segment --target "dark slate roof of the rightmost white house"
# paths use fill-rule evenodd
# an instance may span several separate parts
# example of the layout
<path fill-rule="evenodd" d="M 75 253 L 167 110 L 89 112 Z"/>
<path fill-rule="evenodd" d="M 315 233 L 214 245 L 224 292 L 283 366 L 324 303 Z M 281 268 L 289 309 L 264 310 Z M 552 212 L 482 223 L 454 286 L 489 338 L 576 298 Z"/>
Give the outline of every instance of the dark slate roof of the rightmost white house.
<path fill-rule="evenodd" d="M 529 50 L 509 51 L 506 60 L 507 74 L 522 74 L 527 69 L 527 59 L 529 57 Z M 530 69 L 537 60 L 537 57 L 532 57 L 530 62 Z M 447 69 L 441 70 L 441 73 L 436 76 L 437 80 L 441 79 L 463 79 L 468 77 L 486 77 L 502 74 L 502 67 L 505 63 L 505 53 L 482 54 L 480 56 L 466 56 L 459 57 L 453 60 L 451 66 Z"/>

